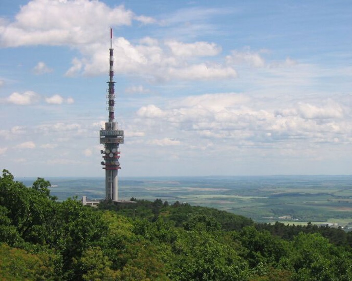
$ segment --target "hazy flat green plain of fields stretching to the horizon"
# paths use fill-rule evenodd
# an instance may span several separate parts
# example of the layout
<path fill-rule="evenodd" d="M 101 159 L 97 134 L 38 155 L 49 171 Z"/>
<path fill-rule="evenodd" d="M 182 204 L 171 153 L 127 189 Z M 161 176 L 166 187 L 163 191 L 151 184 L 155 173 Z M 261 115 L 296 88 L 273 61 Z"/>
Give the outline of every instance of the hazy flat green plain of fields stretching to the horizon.
<path fill-rule="evenodd" d="M 48 180 L 60 200 L 104 197 L 103 178 Z M 260 222 L 352 226 L 352 176 L 121 178 L 119 197 L 187 202 Z"/>

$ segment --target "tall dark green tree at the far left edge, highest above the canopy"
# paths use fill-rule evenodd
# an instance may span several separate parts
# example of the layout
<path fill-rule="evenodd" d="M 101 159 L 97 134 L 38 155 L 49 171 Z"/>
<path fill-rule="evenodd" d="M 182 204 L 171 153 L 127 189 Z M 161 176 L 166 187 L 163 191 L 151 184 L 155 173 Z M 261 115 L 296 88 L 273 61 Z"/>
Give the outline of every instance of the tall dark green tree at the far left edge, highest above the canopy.
<path fill-rule="evenodd" d="M 57 229 L 55 222 L 58 203 L 50 196 L 49 186 L 49 181 L 38 178 L 33 187 L 28 188 L 22 182 L 14 181 L 10 172 L 3 170 L 0 178 L 0 205 L 1 212 L 7 218 L 2 224 L 9 231 L 9 237 L 15 235 L 15 227 L 16 233 L 24 241 L 53 243 L 56 238 L 51 235 Z M 11 243 L 15 241 L 19 239 L 6 240 Z"/>

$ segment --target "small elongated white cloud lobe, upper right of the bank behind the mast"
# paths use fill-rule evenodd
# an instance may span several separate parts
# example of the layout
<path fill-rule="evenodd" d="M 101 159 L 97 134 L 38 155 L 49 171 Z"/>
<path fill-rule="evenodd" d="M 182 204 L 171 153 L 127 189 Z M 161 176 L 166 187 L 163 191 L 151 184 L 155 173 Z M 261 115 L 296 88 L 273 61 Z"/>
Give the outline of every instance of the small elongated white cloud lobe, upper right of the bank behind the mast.
<path fill-rule="evenodd" d="M 221 47 L 215 43 L 195 42 L 182 43 L 175 40 L 166 41 L 174 55 L 181 57 L 216 56 L 221 52 Z"/>

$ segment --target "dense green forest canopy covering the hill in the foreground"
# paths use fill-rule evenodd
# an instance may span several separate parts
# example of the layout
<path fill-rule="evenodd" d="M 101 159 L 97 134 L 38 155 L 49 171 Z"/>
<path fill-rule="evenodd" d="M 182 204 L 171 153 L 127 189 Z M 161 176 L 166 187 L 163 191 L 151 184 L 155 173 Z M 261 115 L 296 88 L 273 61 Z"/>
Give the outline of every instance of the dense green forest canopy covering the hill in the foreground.
<path fill-rule="evenodd" d="M 0 177 L 0 280 L 349 281 L 352 234 L 160 199 L 56 201 Z"/>

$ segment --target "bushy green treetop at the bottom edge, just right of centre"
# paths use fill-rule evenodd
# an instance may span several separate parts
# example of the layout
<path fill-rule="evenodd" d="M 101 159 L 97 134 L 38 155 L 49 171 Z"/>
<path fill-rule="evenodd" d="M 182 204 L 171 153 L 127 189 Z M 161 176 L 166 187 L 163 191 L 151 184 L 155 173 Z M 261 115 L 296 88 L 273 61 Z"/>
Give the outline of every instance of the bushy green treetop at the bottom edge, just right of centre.
<path fill-rule="evenodd" d="M 217 233 L 220 236 L 220 233 Z M 224 244 L 206 231 L 187 231 L 176 243 L 175 259 L 169 274 L 176 281 L 243 281 L 248 264 L 232 244 Z"/>

